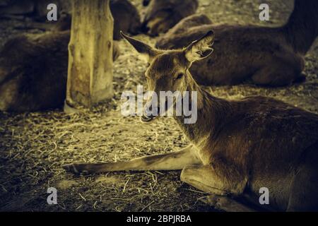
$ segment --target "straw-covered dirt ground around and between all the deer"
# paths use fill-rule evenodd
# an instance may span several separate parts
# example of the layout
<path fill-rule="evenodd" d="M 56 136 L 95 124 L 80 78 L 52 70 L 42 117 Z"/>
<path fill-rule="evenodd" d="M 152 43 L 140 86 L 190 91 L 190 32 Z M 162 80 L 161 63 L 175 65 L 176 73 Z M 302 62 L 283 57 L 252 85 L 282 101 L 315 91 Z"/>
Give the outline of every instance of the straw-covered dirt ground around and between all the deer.
<path fill-rule="evenodd" d="M 199 12 L 214 23 L 259 23 L 259 1 L 201 0 Z M 282 24 L 292 0 L 264 1 L 271 20 Z M 263 3 L 263 2 L 262 2 Z M 141 0 L 134 0 L 141 9 Z M 25 28 L 24 20 L 0 21 L 0 46 L 12 35 L 41 32 Z M 138 35 L 151 44 L 154 38 Z M 318 41 L 318 40 L 317 40 Z M 167 153 L 187 145 L 171 118 L 141 124 L 122 117 L 120 96 L 144 84 L 144 61 L 120 42 L 114 62 L 114 97 L 92 112 L 67 115 L 61 109 L 25 114 L 0 113 L 0 210 L 20 211 L 214 211 L 201 202 L 206 194 L 179 181 L 180 172 L 116 172 L 73 176 L 61 169 L 71 162 L 112 162 Z M 287 88 L 254 85 L 207 87 L 213 95 L 235 99 L 266 95 L 318 112 L 318 42 L 306 55 L 307 81 Z M 47 204 L 47 188 L 57 188 L 58 204 Z"/>

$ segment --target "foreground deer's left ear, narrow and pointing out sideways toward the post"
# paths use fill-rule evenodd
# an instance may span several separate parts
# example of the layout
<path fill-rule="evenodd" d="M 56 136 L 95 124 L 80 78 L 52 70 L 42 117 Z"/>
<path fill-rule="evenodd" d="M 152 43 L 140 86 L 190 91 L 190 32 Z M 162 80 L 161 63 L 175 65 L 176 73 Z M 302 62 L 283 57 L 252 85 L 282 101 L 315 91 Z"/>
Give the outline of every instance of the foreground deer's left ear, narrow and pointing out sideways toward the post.
<path fill-rule="evenodd" d="M 150 62 L 153 59 L 153 57 L 160 54 L 160 50 L 154 49 L 148 44 L 136 40 L 133 37 L 129 37 L 128 35 L 125 35 L 122 31 L 120 31 L 120 34 L 137 50 L 137 52 L 142 54 L 148 62 Z"/>

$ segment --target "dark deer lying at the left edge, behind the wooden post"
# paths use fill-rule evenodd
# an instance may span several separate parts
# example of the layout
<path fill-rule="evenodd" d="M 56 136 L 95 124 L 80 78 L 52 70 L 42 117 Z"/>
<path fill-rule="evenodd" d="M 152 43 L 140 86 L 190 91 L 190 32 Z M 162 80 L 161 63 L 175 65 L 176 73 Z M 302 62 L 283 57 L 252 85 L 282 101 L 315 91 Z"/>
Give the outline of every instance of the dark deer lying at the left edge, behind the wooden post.
<path fill-rule="evenodd" d="M 61 28 L 59 28 L 61 29 Z M 0 110 L 30 112 L 62 107 L 70 31 L 19 35 L 0 51 Z M 114 42 L 113 59 L 119 56 Z"/>

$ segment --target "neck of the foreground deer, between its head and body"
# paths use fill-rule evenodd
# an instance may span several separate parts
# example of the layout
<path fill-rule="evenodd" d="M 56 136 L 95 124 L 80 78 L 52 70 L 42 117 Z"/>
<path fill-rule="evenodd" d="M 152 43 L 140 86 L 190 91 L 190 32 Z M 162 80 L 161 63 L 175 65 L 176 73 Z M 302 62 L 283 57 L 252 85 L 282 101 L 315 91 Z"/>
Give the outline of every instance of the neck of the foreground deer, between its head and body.
<path fill-rule="evenodd" d="M 226 100 L 213 97 L 213 95 L 203 90 L 187 72 L 185 79 L 185 90 L 189 91 L 189 105 L 192 103 L 193 91 L 197 92 L 197 120 L 194 124 L 185 124 L 184 116 L 175 116 L 175 120 L 189 138 L 189 141 L 202 146 L 216 134 L 220 126 L 224 123 L 226 114 L 230 112 L 230 103 Z M 184 106 L 183 106 L 184 107 Z M 192 106 L 189 106 L 191 109 Z"/>

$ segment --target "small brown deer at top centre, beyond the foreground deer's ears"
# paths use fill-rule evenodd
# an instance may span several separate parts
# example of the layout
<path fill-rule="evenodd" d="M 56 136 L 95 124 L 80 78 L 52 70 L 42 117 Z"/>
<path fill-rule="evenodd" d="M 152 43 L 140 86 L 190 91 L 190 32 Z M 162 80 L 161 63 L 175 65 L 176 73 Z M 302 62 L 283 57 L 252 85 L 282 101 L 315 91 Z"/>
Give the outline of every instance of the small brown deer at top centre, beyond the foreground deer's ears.
<path fill-rule="evenodd" d="M 179 20 L 194 14 L 199 5 L 197 0 L 152 0 L 143 1 L 143 4 L 149 5 L 141 30 L 151 36 L 167 32 Z"/>

